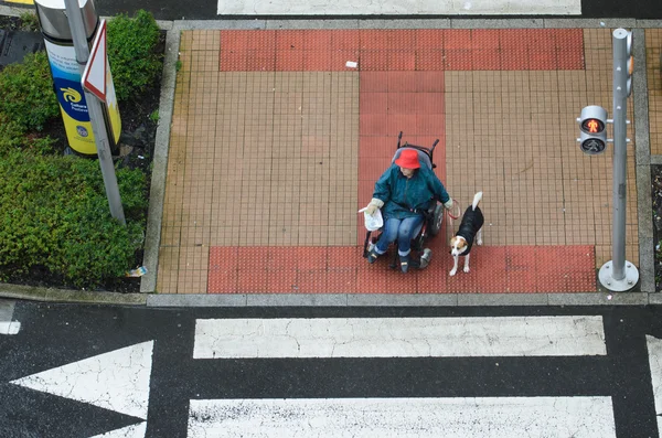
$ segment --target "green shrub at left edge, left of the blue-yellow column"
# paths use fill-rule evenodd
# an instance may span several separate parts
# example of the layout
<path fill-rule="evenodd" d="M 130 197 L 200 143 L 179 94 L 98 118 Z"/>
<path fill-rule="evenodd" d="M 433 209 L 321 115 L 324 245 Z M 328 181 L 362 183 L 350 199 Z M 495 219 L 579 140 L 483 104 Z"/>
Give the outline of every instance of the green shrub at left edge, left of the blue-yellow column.
<path fill-rule="evenodd" d="M 60 114 L 44 52 L 28 54 L 21 64 L 0 72 L 0 113 L 23 131 L 40 131 Z"/>

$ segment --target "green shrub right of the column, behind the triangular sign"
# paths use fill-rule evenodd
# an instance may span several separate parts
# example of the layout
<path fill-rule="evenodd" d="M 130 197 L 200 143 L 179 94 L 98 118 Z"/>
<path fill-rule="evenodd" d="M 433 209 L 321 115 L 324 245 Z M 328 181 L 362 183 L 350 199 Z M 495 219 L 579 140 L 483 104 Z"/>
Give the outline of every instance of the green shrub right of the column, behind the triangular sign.
<path fill-rule="evenodd" d="M 162 60 L 154 53 L 159 33 L 157 21 L 143 10 L 134 19 L 120 14 L 108 22 L 108 62 L 118 100 L 143 92 L 159 77 Z"/>

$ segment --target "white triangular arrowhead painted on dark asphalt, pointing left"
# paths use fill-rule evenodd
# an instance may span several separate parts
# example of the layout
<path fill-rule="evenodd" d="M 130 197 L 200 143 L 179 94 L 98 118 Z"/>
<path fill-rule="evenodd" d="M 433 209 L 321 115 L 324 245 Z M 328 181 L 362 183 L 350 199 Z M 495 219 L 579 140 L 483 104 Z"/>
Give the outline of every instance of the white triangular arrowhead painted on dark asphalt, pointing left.
<path fill-rule="evenodd" d="M 142 342 L 10 383 L 147 419 L 153 343 Z"/>

